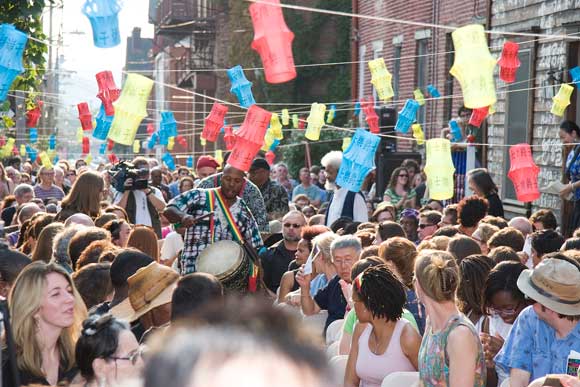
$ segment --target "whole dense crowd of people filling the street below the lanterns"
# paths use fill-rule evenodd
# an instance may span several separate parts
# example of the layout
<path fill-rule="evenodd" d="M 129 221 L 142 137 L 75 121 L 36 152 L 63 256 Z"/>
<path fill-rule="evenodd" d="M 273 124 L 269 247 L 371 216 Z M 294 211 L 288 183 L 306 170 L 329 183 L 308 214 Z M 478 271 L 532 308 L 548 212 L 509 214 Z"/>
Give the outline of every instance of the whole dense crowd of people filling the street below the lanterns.
<path fill-rule="evenodd" d="M 2 385 L 580 385 L 580 232 L 341 163 L 4 160 Z"/>

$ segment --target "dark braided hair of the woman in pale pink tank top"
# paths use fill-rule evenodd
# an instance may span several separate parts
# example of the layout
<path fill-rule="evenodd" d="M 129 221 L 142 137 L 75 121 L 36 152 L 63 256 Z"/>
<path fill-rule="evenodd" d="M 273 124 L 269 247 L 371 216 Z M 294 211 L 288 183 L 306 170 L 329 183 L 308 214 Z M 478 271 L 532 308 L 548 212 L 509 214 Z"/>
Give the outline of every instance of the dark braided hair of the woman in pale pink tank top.
<path fill-rule="evenodd" d="M 403 315 L 405 287 L 386 265 L 362 272 L 355 279 L 353 291 L 374 318 L 397 321 Z"/>

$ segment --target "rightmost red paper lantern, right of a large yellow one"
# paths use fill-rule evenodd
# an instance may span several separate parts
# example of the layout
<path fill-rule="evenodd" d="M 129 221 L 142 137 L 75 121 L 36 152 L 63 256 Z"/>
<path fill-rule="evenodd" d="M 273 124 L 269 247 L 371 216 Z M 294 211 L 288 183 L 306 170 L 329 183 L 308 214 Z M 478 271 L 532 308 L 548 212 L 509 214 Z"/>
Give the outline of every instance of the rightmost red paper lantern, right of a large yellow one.
<path fill-rule="evenodd" d="M 508 177 L 514 184 L 516 198 L 521 202 L 533 202 L 540 197 L 538 174 L 540 168 L 532 157 L 530 144 L 510 147 L 510 170 Z"/>

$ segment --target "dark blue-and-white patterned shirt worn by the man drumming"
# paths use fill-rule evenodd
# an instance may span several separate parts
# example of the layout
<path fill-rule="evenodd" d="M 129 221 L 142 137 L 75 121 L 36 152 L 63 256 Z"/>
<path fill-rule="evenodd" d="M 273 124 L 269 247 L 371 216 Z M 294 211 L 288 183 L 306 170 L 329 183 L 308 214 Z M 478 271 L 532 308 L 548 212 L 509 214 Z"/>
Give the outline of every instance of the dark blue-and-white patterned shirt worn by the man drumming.
<path fill-rule="evenodd" d="M 235 240 L 225 214 L 218 205 L 217 199 L 215 199 L 215 201 L 213 215 L 214 240 L 212 241 L 212 230 L 210 229 L 211 217 L 205 218 L 187 229 L 185 237 L 183 238 L 185 247 L 183 248 L 179 258 L 181 262 L 182 275 L 196 271 L 195 263 L 197 256 L 214 241 Z M 188 215 L 192 215 L 194 218 L 210 212 L 208 194 L 205 189 L 192 189 L 184 192 L 173 198 L 167 206 L 176 207 L 178 210 Z M 244 200 L 237 198 L 236 203 L 230 207 L 230 212 L 232 213 L 244 240 L 250 243 L 256 251 L 260 250 L 263 242 L 260 237 L 260 232 L 258 231 L 258 225 Z"/>

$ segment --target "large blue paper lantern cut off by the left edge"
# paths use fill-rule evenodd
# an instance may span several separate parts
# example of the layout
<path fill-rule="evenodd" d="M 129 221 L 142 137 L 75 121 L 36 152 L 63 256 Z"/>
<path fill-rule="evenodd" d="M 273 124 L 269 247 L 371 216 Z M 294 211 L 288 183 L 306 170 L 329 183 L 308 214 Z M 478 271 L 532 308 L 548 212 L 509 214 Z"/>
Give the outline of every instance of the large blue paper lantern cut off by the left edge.
<path fill-rule="evenodd" d="M 14 79 L 24 72 L 22 55 L 28 36 L 12 24 L 0 26 L 0 101 L 6 100 Z"/>

